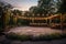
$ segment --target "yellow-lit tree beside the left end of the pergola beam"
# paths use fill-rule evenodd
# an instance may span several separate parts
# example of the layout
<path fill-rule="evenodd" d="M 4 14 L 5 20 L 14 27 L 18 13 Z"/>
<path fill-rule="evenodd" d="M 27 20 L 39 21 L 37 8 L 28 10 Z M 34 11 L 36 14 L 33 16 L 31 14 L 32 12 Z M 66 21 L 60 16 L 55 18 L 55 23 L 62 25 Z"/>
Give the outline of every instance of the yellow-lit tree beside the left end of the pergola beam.
<path fill-rule="evenodd" d="M 22 16 L 22 11 L 20 11 L 20 10 L 12 10 L 12 13 L 13 13 L 13 24 L 18 25 L 18 23 L 19 23 L 18 20 L 19 20 L 19 16 Z"/>

